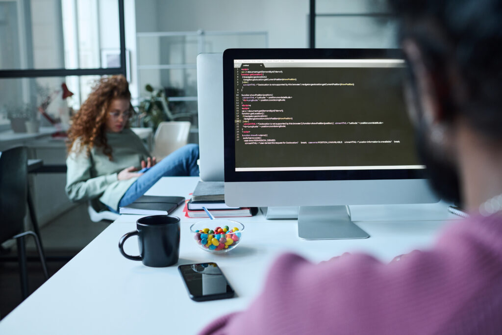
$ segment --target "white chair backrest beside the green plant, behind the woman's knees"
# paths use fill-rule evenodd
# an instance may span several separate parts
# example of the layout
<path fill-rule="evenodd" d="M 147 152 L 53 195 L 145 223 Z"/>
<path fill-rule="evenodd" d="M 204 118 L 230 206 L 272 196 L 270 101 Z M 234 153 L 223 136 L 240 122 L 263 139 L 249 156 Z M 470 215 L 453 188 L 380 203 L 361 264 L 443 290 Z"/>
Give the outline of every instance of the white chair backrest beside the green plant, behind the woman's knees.
<path fill-rule="evenodd" d="M 188 143 L 190 122 L 171 121 L 161 122 L 154 136 L 153 156 L 160 161 L 173 151 Z"/>

